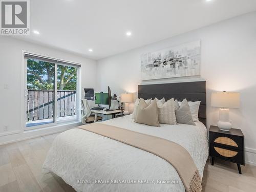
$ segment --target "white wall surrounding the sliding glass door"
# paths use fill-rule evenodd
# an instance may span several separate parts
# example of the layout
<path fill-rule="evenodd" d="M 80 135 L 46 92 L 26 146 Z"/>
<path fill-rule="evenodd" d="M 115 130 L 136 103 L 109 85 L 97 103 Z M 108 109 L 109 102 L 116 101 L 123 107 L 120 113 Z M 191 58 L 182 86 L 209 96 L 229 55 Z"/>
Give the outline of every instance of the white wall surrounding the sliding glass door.
<path fill-rule="evenodd" d="M 47 55 L 63 60 L 81 63 L 81 88 L 96 87 L 96 61 L 77 56 L 71 53 L 58 51 L 52 48 L 31 44 L 30 42 L 15 38 L 0 36 L 0 135 L 22 130 L 21 127 L 21 88 L 22 78 L 22 50 Z M 4 84 L 9 84 L 9 89 L 4 89 Z M 81 90 L 81 96 L 84 92 Z M 4 126 L 8 131 L 4 132 Z M 59 129 L 59 128 L 57 128 Z M 56 130 L 57 130 L 56 129 Z M 52 129 L 51 131 L 54 131 Z M 47 131 L 49 133 L 49 131 Z M 44 132 L 38 132 L 44 134 Z M 34 134 L 30 134 L 32 137 Z M 0 136 L 0 143 L 10 142 L 15 139 L 26 137 L 23 133 L 8 136 Z"/>

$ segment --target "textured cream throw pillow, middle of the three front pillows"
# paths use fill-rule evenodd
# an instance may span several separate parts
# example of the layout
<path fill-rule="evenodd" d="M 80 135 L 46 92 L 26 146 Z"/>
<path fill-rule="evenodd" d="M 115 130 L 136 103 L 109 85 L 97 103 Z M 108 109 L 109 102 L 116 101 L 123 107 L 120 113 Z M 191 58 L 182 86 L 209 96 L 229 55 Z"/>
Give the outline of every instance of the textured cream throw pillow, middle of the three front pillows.
<path fill-rule="evenodd" d="M 163 124 L 176 124 L 174 99 L 166 101 L 158 106 L 158 121 Z"/>

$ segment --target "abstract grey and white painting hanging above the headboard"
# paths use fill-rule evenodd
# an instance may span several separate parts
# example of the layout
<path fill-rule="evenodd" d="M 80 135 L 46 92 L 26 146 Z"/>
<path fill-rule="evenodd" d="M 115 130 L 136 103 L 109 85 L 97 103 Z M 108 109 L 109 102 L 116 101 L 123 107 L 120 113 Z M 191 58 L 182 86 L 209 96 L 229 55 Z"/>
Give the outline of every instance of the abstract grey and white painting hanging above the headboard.
<path fill-rule="evenodd" d="M 142 80 L 200 75 L 201 41 L 141 55 Z"/>

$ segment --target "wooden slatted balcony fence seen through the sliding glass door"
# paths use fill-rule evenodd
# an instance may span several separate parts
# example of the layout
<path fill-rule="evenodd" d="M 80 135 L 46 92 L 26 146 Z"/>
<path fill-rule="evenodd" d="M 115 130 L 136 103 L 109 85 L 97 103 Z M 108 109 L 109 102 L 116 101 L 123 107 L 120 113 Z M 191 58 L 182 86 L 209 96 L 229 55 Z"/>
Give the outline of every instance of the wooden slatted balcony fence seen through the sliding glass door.
<path fill-rule="evenodd" d="M 54 92 L 28 90 L 27 121 L 53 118 Z M 57 91 L 57 117 L 76 115 L 76 91 Z"/>

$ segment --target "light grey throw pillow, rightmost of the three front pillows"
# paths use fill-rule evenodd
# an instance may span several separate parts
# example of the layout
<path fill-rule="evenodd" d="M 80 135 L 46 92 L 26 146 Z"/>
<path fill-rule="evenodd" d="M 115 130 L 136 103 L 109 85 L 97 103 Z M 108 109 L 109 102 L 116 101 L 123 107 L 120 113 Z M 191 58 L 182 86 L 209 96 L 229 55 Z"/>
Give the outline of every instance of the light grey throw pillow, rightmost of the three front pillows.
<path fill-rule="evenodd" d="M 189 105 L 186 99 L 180 104 L 180 109 L 175 110 L 177 123 L 196 125 L 193 121 Z"/>

